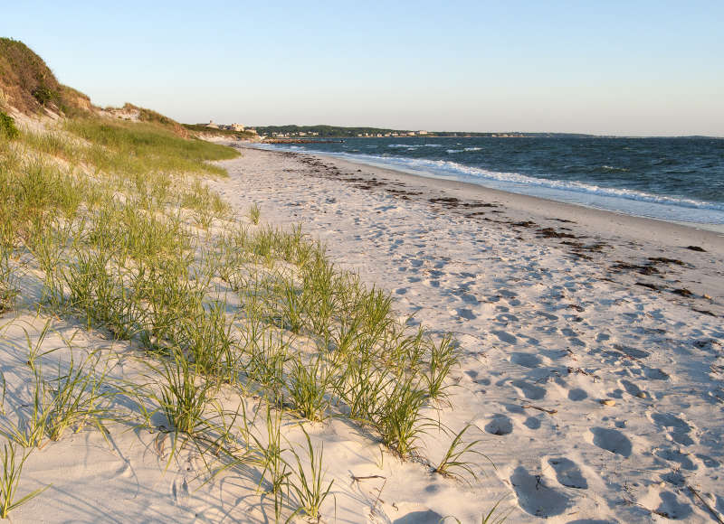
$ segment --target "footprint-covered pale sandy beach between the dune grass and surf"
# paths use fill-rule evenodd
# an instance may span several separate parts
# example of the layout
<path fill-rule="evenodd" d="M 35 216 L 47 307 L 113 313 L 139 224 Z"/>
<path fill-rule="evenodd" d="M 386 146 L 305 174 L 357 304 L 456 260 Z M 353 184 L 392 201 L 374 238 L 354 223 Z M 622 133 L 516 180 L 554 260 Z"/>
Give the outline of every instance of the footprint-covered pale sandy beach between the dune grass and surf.
<path fill-rule="evenodd" d="M 472 423 L 496 468 L 472 487 L 388 479 L 390 520 L 474 521 L 504 499 L 513 522 L 711 521 L 694 492 L 724 511 L 720 234 L 329 157 L 226 165 L 224 198 L 301 223 L 462 345 L 440 416 Z"/>

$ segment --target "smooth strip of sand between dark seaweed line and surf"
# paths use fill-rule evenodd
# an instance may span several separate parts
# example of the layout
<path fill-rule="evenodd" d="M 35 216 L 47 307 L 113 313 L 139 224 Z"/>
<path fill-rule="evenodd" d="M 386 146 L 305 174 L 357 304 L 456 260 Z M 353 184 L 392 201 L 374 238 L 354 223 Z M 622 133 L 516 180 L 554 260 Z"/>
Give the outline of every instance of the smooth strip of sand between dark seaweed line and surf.
<path fill-rule="evenodd" d="M 353 179 L 369 181 L 377 179 L 380 181 L 374 182 L 374 185 L 369 188 L 370 190 L 384 192 L 386 187 L 388 190 L 391 188 L 391 194 L 396 198 L 425 201 L 427 205 L 432 204 L 445 211 L 455 212 L 462 215 L 464 219 L 484 220 L 492 224 L 499 222 L 500 225 L 509 226 L 519 233 L 532 232 L 536 237 L 539 236 L 537 232 L 541 229 L 555 229 L 555 231 L 541 234 L 544 237 L 548 236 L 548 239 L 543 240 L 549 240 L 557 244 L 557 247 L 561 247 L 562 242 L 564 243 L 562 247 L 567 248 L 565 244 L 567 241 L 575 242 L 580 239 L 586 239 L 588 243 L 614 246 L 614 253 L 606 253 L 605 258 L 625 260 L 626 264 L 633 266 L 631 269 L 634 276 L 638 276 L 637 270 L 642 270 L 643 264 L 647 263 L 646 257 L 642 257 L 642 252 L 652 252 L 656 257 L 681 261 L 689 266 L 688 268 L 697 270 L 695 276 L 688 279 L 681 278 L 682 285 L 678 289 L 691 290 L 699 296 L 710 296 L 720 308 L 718 308 L 718 314 L 724 315 L 724 278 L 722 278 L 724 274 L 719 269 L 719 267 L 724 267 L 724 234 L 717 231 L 699 229 L 689 224 L 637 217 L 622 212 L 599 210 L 574 203 L 500 191 L 472 182 L 425 177 L 386 167 L 350 162 L 330 155 L 269 151 L 253 146 L 242 146 L 241 149 L 251 149 L 263 154 L 290 155 L 300 159 L 317 158 L 331 166 L 335 173 L 354 174 Z M 319 171 L 319 166 L 312 166 L 311 169 Z M 337 176 L 334 175 L 334 177 Z M 352 180 L 351 183 L 367 187 L 364 185 L 366 182 Z M 405 185 L 408 186 L 409 191 L 399 189 Z M 404 195 L 405 191 L 410 194 Z M 420 194 L 412 194 L 415 192 L 420 192 Z M 431 202 L 431 200 L 441 198 L 443 200 L 457 199 L 459 202 Z M 486 207 L 474 207 L 473 204 L 476 201 L 482 201 L 486 206 L 493 202 L 495 207 L 491 211 L 488 211 L 489 208 Z M 488 212 L 483 215 L 484 211 L 480 210 Z M 568 237 L 568 235 L 571 236 Z M 542 241 L 542 239 L 537 240 Z M 575 247 L 570 246 L 570 248 Z M 690 248 L 701 248 L 704 251 L 695 251 Z M 577 253 L 582 257 L 596 257 L 597 255 L 596 251 L 585 248 L 577 250 Z M 683 268 L 681 266 L 681 269 Z M 644 276 L 634 280 L 643 280 L 644 284 L 648 284 Z M 633 285 L 635 282 L 627 282 L 627 284 Z M 698 288 L 698 293 L 695 288 Z M 686 293 L 684 294 L 686 295 Z M 710 304 L 710 301 L 706 301 L 704 305 L 708 307 Z"/>

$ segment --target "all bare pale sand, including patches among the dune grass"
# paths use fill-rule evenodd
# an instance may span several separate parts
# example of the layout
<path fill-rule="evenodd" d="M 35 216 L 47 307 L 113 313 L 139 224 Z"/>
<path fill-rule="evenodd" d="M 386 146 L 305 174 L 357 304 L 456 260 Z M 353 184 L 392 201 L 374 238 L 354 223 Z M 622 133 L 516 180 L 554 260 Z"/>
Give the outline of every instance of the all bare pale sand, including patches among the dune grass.
<path fill-rule="evenodd" d="M 496 466 L 475 459 L 480 480 L 467 486 L 424 463 L 401 463 L 342 419 L 307 425 L 313 441 L 324 443 L 334 479 L 336 503 L 326 502 L 325 521 L 432 523 L 452 515 L 480 522 L 503 499 L 510 522 L 711 522 L 690 487 L 724 513 L 719 235 L 337 160 L 243 153 L 224 163 L 229 180 L 211 182 L 235 208 L 256 202 L 264 221 L 300 222 L 341 265 L 392 292 L 400 315 L 414 313 L 433 332 L 456 334 L 464 351 L 458 388 L 439 416 L 454 431 L 472 423 L 468 438 L 481 439 L 478 449 Z M 340 180 L 339 173 L 362 180 Z M 366 182 L 372 177 L 384 185 Z M 460 202 L 428 201 L 440 197 Z M 463 207 L 466 201 L 499 206 Z M 485 214 L 466 216 L 475 212 Z M 510 224 L 526 220 L 537 226 Z M 548 227 L 578 238 L 539 239 L 537 229 Z M 605 247 L 580 251 L 588 259 L 562 241 Z M 658 262 L 659 273 L 645 276 L 610 269 L 617 260 L 643 266 L 648 257 L 683 266 Z M 672 293 L 682 288 L 692 296 Z M 36 294 L 24 289 L 28 303 Z M 30 376 L 23 328 L 33 342 L 44 319 L 6 314 L 0 324 L 10 321 L 0 361 L 7 395 L 23 398 Z M 85 347 L 119 355 L 112 376 L 141 379 L 144 368 L 127 344 L 56 320 L 43 350 L 64 347 L 56 332 L 76 333 L 74 354 Z M 56 360 L 67 355 L 52 353 Z M 230 408 L 241 401 L 227 397 Z M 290 445 L 300 444 L 300 430 L 288 426 Z M 21 491 L 52 487 L 13 520 L 263 521 L 253 473 L 230 470 L 200 486 L 197 454 L 185 451 L 168 463 L 167 437 L 159 435 L 111 425 L 109 442 L 82 431 L 33 452 Z M 449 443 L 433 429 L 423 454 L 436 463 Z M 352 475 L 385 478 L 355 482 Z"/>

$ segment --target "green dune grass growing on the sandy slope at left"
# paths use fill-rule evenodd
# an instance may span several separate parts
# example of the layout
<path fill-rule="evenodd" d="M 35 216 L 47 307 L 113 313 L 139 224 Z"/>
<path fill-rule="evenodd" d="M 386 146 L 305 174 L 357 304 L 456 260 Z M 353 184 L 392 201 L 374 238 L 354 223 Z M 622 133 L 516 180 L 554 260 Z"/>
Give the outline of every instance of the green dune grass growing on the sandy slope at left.
<path fill-rule="evenodd" d="M 223 175 L 209 162 L 236 154 L 152 123 L 99 118 L 23 131 L 12 144 L 0 138 L 0 305 L 14 293 L 12 260 L 29 257 L 42 275 L 41 311 L 141 351 L 149 385 L 126 394 L 139 409 L 151 406 L 148 426 L 160 412 L 168 431 L 227 457 L 224 471 L 257 467 L 275 519 L 292 502 L 318 519 L 331 488 L 322 450 L 306 431 L 306 454 L 283 446 L 282 417 L 348 417 L 400 458 L 421 454 L 429 411 L 450 404 L 459 353 L 452 336 L 400 320 L 389 293 L 339 268 L 300 226 L 262 225 L 256 204 L 235 216 L 199 176 Z M 119 389 L 101 388 L 105 372 L 89 359 L 71 360 L 52 380 L 37 360 L 32 413 L 8 438 L 33 447 L 71 427 L 103 431 Z M 245 411 L 224 414 L 222 386 L 261 399 L 265 438 L 253 435 Z M 472 471 L 462 457 L 475 443 L 462 444 L 464 431 L 438 473 Z M 239 445 L 241 458 L 229 458 Z"/>

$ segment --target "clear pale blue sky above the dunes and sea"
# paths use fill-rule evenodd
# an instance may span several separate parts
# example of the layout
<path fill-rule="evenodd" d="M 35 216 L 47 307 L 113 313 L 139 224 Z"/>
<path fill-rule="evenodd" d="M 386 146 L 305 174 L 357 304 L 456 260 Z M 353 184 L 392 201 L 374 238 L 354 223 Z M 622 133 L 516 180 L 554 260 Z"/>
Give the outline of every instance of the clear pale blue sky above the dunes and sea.
<path fill-rule="evenodd" d="M 184 122 L 724 136 L 724 2 L 4 0 L 100 105 Z"/>

